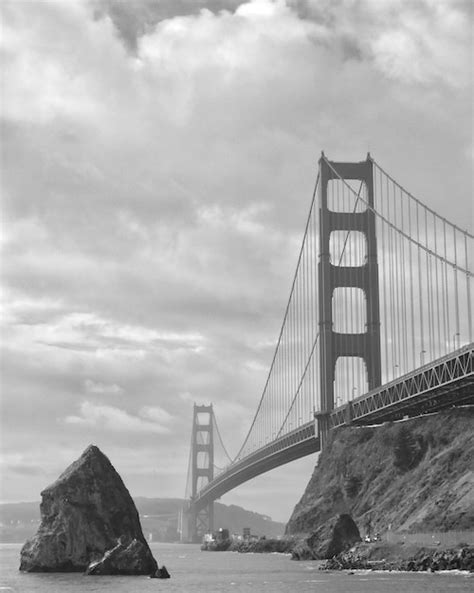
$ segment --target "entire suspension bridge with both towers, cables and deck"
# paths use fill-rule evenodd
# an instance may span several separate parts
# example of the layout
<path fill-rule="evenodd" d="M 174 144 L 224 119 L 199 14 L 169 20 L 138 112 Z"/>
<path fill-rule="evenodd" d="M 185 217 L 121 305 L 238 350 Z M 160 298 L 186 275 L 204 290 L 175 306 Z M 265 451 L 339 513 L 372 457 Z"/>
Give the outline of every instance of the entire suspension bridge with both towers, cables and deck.
<path fill-rule="evenodd" d="M 474 403 L 473 239 L 370 155 L 322 153 L 268 377 L 234 458 L 213 406 L 194 406 L 184 540 L 213 530 L 215 499 L 321 450 L 338 426 Z"/>

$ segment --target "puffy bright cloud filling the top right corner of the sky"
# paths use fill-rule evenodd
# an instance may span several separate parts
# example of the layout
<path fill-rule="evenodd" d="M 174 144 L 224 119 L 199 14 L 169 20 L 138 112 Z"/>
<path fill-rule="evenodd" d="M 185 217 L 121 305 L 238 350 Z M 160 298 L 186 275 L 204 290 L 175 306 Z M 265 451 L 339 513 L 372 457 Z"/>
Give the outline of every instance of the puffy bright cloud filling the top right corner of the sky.
<path fill-rule="evenodd" d="M 469 82 L 470 3 L 465 0 L 291 0 L 321 24 L 348 57 L 367 59 L 402 84 L 465 88 Z"/>

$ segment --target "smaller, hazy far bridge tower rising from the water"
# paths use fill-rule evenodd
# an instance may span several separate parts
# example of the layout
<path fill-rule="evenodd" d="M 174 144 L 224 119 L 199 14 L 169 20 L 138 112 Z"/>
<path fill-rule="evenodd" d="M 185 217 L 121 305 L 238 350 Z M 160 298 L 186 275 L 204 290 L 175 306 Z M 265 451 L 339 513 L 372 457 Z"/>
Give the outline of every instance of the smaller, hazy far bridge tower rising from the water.
<path fill-rule="evenodd" d="M 194 404 L 191 440 L 191 504 L 188 511 L 188 537 L 200 542 L 205 533 L 214 530 L 214 503 L 202 508 L 193 503 L 198 491 L 214 477 L 214 412 L 212 404 Z"/>

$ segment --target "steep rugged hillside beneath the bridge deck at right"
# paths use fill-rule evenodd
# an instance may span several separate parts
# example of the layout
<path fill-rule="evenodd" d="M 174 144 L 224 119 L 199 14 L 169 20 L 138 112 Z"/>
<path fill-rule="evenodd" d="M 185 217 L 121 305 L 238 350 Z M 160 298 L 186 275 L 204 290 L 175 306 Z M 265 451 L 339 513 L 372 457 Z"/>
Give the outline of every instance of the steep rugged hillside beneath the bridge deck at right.
<path fill-rule="evenodd" d="M 474 529 L 474 408 L 337 430 L 286 534 L 349 513 L 362 534 Z"/>

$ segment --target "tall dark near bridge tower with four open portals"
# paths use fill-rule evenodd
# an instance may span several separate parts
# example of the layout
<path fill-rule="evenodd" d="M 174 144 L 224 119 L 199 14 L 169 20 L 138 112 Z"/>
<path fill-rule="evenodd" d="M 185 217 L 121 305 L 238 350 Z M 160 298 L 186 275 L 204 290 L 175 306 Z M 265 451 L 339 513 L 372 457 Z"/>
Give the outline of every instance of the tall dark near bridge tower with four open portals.
<path fill-rule="evenodd" d="M 373 162 L 370 155 L 360 163 L 319 160 L 319 325 L 321 410 L 316 414 L 321 448 L 329 432 L 329 415 L 334 409 L 336 362 L 340 356 L 361 357 L 365 362 L 368 388 L 381 384 L 380 310 L 375 234 Z M 328 206 L 328 184 L 332 180 L 359 180 L 366 186 L 368 208 L 363 212 L 335 212 Z M 366 260 L 361 266 L 337 266 L 331 262 L 330 237 L 334 231 L 358 231 L 365 235 Z M 339 333 L 333 330 L 333 295 L 339 287 L 360 288 L 365 294 L 365 333 Z"/>

